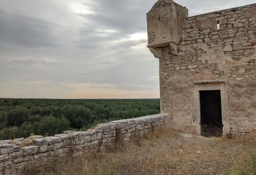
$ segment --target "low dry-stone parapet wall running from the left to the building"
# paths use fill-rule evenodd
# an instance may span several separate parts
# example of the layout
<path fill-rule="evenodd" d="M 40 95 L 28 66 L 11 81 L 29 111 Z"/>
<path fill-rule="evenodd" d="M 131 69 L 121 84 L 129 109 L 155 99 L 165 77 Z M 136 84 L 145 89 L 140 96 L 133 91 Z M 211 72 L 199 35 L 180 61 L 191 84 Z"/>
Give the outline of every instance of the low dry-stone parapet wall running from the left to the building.
<path fill-rule="evenodd" d="M 87 132 L 64 131 L 53 137 L 31 136 L 27 139 L 0 141 L 0 175 L 24 173 L 25 166 L 40 167 L 47 159 L 68 154 L 79 156 L 115 145 L 118 132 L 129 142 L 132 135 L 163 126 L 169 114 L 148 115 L 99 124 Z"/>

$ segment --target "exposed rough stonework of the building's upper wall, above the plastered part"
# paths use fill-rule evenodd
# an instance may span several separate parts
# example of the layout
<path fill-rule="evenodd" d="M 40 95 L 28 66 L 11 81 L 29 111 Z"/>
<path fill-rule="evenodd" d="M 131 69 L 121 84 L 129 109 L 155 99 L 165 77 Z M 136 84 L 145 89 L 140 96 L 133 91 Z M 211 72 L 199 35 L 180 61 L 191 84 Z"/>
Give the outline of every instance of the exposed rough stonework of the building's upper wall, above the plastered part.
<path fill-rule="evenodd" d="M 170 47 L 163 48 L 160 67 L 163 72 L 191 76 L 207 67 L 216 77 L 246 74 L 252 79 L 255 69 L 256 4 L 188 17 L 180 29 L 179 52 L 172 55 Z M 217 29 L 219 23 L 220 29 Z M 208 52 L 208 53 L 207 53 Z M 232 69 L 224 73 L 223 64 L 214 54 L 225 56 Z M 207 57 L 207 58 L 204 58 Z M 251 58 L 250 58 L 251 57 Z M 248 58 L 250 58 L 248 60 Z M 238 71 L 240 72 L 238 73 Z M 229 75 L 230 73 L 230 75 Z"/>

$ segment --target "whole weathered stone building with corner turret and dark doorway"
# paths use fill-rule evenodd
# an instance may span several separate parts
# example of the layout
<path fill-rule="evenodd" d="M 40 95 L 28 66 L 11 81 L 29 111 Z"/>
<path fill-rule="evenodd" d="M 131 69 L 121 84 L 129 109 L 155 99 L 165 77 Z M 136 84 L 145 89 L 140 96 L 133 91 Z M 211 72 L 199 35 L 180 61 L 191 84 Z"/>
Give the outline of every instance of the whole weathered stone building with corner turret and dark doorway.
<path fill-rule="evenodd" d="M 193 134 L 256 134 L 256 3 L 188 17 L 159 0 L 147 13 L 161 112 Z"/>

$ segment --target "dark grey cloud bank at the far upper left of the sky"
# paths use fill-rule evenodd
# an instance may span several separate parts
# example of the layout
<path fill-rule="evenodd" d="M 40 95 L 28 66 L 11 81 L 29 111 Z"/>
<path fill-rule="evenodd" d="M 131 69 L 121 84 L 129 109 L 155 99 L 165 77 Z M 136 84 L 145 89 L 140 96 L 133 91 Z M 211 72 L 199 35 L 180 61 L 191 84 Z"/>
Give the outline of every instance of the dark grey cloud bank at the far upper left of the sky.
<path fill-rule="evenodd" d="M 0 13 L 0 43 L 30 48 L 54 47 L 57 39 L 53 30 L 53 24 L 34 17 L 3 11 Z"/>

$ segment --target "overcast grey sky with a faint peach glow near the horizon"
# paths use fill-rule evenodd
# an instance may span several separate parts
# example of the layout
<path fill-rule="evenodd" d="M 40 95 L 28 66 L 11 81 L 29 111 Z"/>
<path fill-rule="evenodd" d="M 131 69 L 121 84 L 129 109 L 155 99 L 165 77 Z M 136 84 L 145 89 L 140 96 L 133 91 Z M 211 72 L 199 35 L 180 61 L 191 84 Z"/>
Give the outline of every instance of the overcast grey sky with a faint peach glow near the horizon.
<path fill-rule="evenodd" d="M 159 98 L 156 0 L 0 0 L 0 97 Z M 176 0 L 189 16 L 255 0 Z"/>

